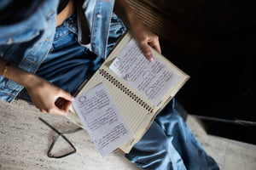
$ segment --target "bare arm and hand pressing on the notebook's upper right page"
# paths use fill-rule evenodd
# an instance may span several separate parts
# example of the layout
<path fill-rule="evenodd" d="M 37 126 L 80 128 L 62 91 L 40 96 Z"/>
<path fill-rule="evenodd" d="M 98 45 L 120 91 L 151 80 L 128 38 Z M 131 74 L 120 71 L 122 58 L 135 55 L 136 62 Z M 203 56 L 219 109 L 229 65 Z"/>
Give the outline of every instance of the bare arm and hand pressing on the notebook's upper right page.
<path fill-rule="evenodd" d="M 115 0 L 113 11 L 123 20 L 127 29 L 131 31 L 132 37 L 135 38 L 139 46 L 143 49 L 143 54 L 147 59 L 153 60 L 153 55 L 148 45 L 161 53 L 158 36 L 143 25 L 125 0 Z"/>

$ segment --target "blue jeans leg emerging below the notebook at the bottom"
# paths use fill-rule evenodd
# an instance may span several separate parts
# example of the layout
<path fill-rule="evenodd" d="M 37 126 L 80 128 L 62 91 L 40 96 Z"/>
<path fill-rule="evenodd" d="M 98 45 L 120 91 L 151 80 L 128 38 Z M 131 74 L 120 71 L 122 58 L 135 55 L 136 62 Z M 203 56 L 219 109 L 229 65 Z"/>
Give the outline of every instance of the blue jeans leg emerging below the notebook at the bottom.
<path fill-rule="evenodd" d="M 125 157 L 143 169 L 218 170 L 218 164 L 207 156 L 174 104 L 172 99 Z"/>

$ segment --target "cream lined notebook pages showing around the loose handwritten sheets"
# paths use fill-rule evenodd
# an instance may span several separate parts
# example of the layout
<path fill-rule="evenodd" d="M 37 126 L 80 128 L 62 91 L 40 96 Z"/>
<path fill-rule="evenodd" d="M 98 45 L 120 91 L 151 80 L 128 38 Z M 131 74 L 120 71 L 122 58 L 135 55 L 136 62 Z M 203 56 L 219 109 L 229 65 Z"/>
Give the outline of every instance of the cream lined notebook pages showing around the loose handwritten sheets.
<path fill-rule="evenodd" d="M 136 88 L 133 88 L 131 84 L 125 82 L 123 77 L 119 77 L 109 68 L 114 59 L 122 52 L 130 40 L 131 34 L 127 32 L 113 48 L 113 51 L 109 54 L 108 59 L 105 60 L 103 65 L 96 71 L 93 77 L 91 77 L 90 80 L 84 84 L 84 87 L 81 88 L 82 90 L 79 92 L 79 94 L 81 94 L 90 88 L 94 88 L 100 83 L 103 83 L 108 89 L 108 93 L 110 94 L 111 98 L 113 98 L 113 102 L 119 109 L 119 112 L 124 117 L 125 122 L 135 137 L 135 139 L 128 141 L 126 144 L 120 147 L 120 149 L 125 151 L 125 153 L 128 153 L 132 146 L 143 137 L 143 134 L 147 132 L 148 127 L 150 127 L 151 122 L 153 122 L 154 116 L 156 116 L 157 113 L 172 99 L 172 97 L 177 94 L 177 91 L 182 88 L 183 84 L 189 79 L 189 76 L 178 69 L 176 65 L 173 65 L 172 62 L 151 48 L 154 57 L 157 58 L 160 63 L 164 63 L 166 67 L 172 70 L 173 73 L 178 77 L 176 78 L 174 84 L 172 84 L 172 88 L 168 89 L 166 94 L 161 94 L 162 98 L 160 99 L 160 103 L 155 105 L 154 101 L 148 100 L 143 94 L 138 92 Z M 104 71 L 106 74 L 108 73 L 109 77 L 113 77 L 114 81 L 109 81 L 109 78 L 102 76 L 102 72 Z M 120 86 L 118 85 L 117 87 L 113 82 L 120 82 L 122 85 L 125 85 L 125 88 L 128 88 L 130 92 L 136 95 L 136 99 L 133 99 L 131 97 L 132 95 L 130 96 L 125 94 L 125 92 L 120 89 Z M 145 105 L 137 102 L 137 98 L 143 99 Z M 73 122 L 80 125 L 75 111 L 73 110 L 73 106 L 70 110 L 73 111 L 73 114 L 69 114 L 69 116 L 74 120 Z"/>

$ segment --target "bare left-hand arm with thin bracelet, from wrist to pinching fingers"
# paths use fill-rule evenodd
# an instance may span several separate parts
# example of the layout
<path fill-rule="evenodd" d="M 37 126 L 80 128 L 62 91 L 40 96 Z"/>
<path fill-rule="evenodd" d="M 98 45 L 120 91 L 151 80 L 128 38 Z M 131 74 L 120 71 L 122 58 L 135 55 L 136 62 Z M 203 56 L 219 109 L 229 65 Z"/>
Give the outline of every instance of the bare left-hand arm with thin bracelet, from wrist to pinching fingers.
<path fill-rule="evenodd" d="M 33 104 L 42 112 L 66 116 L 73 97 L 71 94 L 56 87 L 47 80 L 37 77 L 30 72 L 23 71 L 15 65 L 6 67 L 7 61 L 0 58 L 0 71 L 21 86 L 24 86 L 30 95 Z"/>

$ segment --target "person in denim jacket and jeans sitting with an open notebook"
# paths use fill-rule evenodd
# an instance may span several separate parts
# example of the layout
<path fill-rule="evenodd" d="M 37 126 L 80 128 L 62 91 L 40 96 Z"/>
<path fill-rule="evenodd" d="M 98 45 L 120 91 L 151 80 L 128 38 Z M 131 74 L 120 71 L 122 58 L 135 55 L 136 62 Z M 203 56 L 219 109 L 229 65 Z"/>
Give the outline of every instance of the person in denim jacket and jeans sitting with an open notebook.
<path fill-rule="evenodd" d="M 0 99 L 31 100 L 67 116 L 73 94 L 128 29 L 148 60 L 158 36 L 125 0 L 27 0 L 0 3 Z M 155 117 L 125 157 L 143 169 L 219 169 L 174 108 Z"/>

